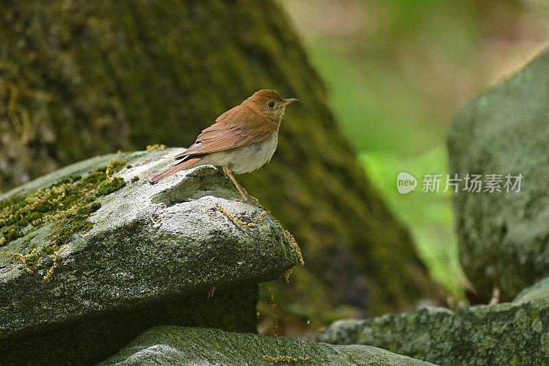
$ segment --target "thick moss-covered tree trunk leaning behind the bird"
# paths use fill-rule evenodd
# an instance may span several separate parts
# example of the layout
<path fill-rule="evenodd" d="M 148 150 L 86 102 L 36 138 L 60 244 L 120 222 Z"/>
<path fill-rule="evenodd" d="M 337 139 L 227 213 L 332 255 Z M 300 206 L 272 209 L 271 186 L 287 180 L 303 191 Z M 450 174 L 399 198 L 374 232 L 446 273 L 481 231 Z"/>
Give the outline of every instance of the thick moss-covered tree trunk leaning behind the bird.
<path fill-rule="evenodd" d="M 270 164 L 242 183 L 303 247 L 294 301 L 379 312 L 424 294 L 407 231 L 366 181 L 276 3 L 6 0 L 0 35 L 2 188 L 105 152 L 189 146 L 227 108 L 277 89 L 301 102 Z"/>

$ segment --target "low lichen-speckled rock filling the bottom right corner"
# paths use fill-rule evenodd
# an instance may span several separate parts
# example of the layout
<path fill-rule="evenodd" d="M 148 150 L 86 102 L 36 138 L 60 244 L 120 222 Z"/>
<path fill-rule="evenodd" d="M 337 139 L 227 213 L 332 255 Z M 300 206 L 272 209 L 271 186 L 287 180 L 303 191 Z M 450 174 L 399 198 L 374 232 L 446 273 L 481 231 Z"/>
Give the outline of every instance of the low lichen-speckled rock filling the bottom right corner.
<path fill-rule="evenodd" d="M 437 365 L 544 365 L 549 359 L 549 299 L 425 308 L 364 320 L 340 320 L 315 337 L 384 348 Z"/>

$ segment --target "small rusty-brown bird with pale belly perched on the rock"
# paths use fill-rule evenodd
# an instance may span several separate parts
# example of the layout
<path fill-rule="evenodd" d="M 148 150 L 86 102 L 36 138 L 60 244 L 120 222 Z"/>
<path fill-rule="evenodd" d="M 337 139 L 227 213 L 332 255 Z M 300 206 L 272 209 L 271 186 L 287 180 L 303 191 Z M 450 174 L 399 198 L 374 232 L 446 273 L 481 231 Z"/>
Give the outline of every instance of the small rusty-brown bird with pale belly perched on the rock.
<path fill-rule="evenodd" d="M 229 109 L 209 126 L 184 152 L 180 160 L 166 170 L 154 174 L 150 183 L 156 183 L 180 170 L 200 165 L 217 165 L 235 183 L 244 201 L 259 205 L 240 185 L 233 173 L 253 172 L 268 163 L 277 150 L 280 122 L 286 105 L 298 99 L 282 99 L 274 90 L 262 89 Z"/>

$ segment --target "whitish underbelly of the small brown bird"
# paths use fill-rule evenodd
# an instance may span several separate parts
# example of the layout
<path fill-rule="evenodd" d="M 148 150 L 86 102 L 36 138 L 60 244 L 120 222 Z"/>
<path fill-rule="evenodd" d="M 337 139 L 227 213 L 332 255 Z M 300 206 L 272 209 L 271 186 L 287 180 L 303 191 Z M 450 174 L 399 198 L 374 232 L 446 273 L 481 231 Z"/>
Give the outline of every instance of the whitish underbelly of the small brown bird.
<path fill-rule="evenodd" d="M 227 166 L 232 163 L 233 172 L 236 174 L 253 172 L 270 161 L 274 151 L 277 150 L 278 141 L 277 131 L 274 131 L 264 141 L 231 150 L 212 152 L 200 160 L 200 165 Z"/>

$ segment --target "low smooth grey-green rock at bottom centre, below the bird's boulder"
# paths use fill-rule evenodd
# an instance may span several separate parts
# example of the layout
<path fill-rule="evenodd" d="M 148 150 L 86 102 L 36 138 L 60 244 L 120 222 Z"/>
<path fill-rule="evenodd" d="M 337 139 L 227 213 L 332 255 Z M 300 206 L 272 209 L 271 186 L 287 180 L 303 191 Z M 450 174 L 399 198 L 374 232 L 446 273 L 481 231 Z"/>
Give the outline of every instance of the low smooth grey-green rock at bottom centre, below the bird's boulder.
<path fill-rule="evenodd" d="M 164 325 L 140 334 L 100 365 L 432 365 L 364 345 L 327 345 L 282 336 Z M 301 358 L 301 360 L 299 360 Z M 299 361 L 298 361 L 299 360 Z"/>

